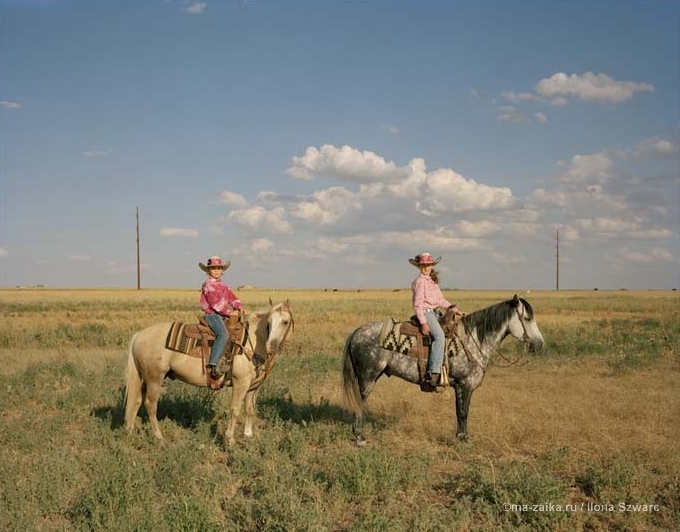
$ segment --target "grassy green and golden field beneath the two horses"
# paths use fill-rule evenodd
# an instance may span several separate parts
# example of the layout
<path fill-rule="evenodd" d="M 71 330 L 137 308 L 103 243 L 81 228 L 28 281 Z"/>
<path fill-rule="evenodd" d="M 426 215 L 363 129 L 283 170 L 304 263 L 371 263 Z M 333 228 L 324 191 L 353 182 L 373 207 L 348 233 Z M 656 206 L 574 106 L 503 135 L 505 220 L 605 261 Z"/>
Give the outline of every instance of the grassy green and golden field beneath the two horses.
<path fill-rule="evenodd" d="M 0 291 L 0 528 L 7 531 L 680 529 L 677 292 L 534 292 L 546 339 L 492 362 L 455 438 L 451 391 L 381 379 L 367 447 L 340 395 L 345 338 L 411 314 L 400 291 L 289 298 L 296 328 L 251 441 L 222 441 L 229 390 L 166 381 L 165 442 L 122 428 L 131 334 L 193 321 L 196 290 Z M 445 292 L 466 311 L 513 292 Z M 434 412 L 434 414 L 430 414 Z"/>

